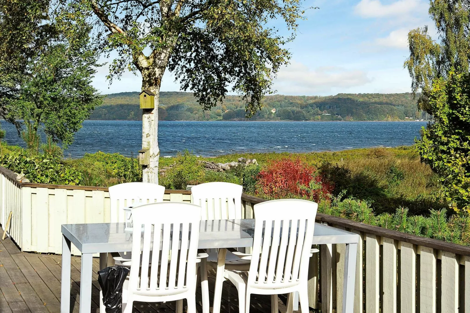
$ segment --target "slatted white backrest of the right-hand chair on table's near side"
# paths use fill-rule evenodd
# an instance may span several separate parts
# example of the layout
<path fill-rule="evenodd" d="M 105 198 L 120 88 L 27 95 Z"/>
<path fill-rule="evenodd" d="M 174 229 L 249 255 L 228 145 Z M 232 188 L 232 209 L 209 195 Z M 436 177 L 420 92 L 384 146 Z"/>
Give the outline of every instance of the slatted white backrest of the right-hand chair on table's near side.
<path fill-rule="evenodd" d="M 254 206 L 251 287 L 286 288 L 306 282 L 317 207 L 317 203 L 299 199 Z"/>

